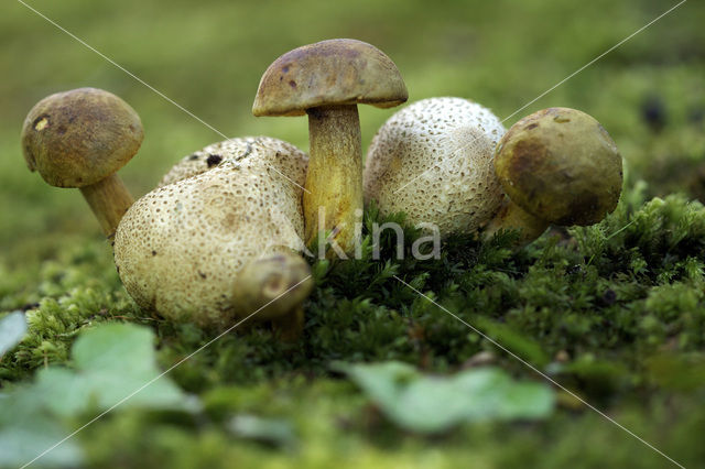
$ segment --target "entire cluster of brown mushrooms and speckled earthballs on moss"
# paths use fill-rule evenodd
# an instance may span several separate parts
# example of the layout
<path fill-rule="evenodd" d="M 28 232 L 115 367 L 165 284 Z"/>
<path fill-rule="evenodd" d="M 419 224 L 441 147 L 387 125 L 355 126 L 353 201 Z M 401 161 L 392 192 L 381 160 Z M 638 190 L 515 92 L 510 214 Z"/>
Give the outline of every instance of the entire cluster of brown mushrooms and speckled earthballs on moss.
<path fill-rule="evenodd" d="M 291 338 L 313 288 L 297 251 L 325 232 L 339 257 L 351 253 L 364 201 L 444 237 L 519 229 L 521 242 L 550 223 L 590 225 L 615 209 L 622 182 L 615 142 L 567 108 L 535 112 L 506 132 L 476 102 L 424 99 L 382 126 L 362 170 L 357 105 L 406 98 L 394 63 L 370 44 L 295 48 L 264 72 L 252 112 L 307 114 L 311 156 L 267 137 L 215 143 L 134 204 L 116 173 L 140 148 L 142 126 L 110 92 L 80 88 L 41 100 L 24 121 L 22 149 L 48 184 L 80 188 L 115 238 L 120 279 L 140 307 L 219 329 L 258 314 Z"/>

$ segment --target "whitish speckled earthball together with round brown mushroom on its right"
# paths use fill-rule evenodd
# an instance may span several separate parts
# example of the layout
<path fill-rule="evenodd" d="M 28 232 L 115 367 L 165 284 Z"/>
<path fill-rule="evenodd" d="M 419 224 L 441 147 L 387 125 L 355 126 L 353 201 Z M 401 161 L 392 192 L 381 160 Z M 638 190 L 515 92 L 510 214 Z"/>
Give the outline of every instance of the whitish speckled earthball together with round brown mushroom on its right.
<path fill-rule="evenodd" d="M 549 108 L 507 133 L 489 110 L 430 98 L 393 114 L 367 154 L 365 198 L 441 236 L 518 230 L 528 243 L 550 225 L 593 225 L 621 193 L 621 156 L 585 112 Z"/>

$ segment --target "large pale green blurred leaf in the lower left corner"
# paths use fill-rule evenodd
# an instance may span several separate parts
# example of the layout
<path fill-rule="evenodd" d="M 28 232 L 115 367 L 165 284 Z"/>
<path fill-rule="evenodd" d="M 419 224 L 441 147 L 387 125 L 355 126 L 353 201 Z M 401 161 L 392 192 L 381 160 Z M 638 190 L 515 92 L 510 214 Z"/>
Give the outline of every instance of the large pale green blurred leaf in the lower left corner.
<path fill-rule="evenodd" d="M 34 384 L 0 394 L 0 466 L 21 466 L 73 429 L 62 418 L 120 407 L 193 411 L 199 407 L 169 378 L 144 327 L 109 324 L 85 330 L 73 347 L 75 369 L 50 367 Z M 58 417 L 58 418 L 57 418 Z M 42 456 L 44 466 L 78 466 L 82 454 L 65 441 Z"/>

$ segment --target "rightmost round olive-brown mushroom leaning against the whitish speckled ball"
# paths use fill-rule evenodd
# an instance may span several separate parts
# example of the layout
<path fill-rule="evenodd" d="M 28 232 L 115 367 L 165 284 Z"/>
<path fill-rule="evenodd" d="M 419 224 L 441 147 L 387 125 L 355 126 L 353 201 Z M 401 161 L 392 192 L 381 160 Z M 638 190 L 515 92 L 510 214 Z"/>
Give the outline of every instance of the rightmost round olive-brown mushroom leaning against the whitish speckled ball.
<path fill-rule="evenodd" d="M 611 212 L 622 185 L 621 155 L 593 117 L 549 108 L 514 123 L 497 145 L 495 170 L 507 193 L 485 237 L 521 230 L 521 243 L 549 225 L 594 225 Z"/>

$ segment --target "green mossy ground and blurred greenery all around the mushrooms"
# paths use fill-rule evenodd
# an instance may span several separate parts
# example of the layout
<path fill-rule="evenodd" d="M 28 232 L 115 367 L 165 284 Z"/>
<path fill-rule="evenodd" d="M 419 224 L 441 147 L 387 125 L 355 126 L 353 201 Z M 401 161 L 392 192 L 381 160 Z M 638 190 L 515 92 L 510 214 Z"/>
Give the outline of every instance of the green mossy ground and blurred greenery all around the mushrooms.
<path fill-rule="evenodd" d="M 362 2 L 348 11 L 334 2 L 172 2 L 167 10 L 151 1 L 32 4 L 226 134 L 270 134 L 304 149 L 305 119 L 256 120 L 249 113 L 260 74 L 297 45 L 337 36 L 371 42 L 397 62 L 412 100 L 463 96 L 503 118 L 671 6 L 394 1 Z M 165 369 L 212 335 L 133 305 L 78 193 L 50 188 L 26 172 L 19 131 L 29 108 L 48 92 L 79 86 L 117 92 L 145 124 L 143 150 L 122 172 L 134 194 L 153 187 L 181 156 L 221 138 L 20 3 L 6 9 L 0 312 L 25 309 L 31 332 L 0 361 L 0 384 L 12 388 L 42 367 L 68 362 L 79 330 L 102 321 L 153 328 Z M 628 170 L 622 201 L 606 221 L 552 230 L 517 252 L 508 249 L 511 236 L 484 246 L 452 239 L 441 260 L 423 262 L 395 260 L 389 233 L 381 261 L 317 263 L 300 342 L 282 343 L 262 327 L 224 337 L 172 372 L 202 397 L 206 418 L 116 412 L 76 437 L 89 461 L 668 466 L 565 393 L 542 423 L 465 425 L 421 437 L 386 422 L 332 371 L 333 361 L 397 359 L 427 372 L 453 372 L 489 351 L 513 374 L 540 379 L 397 275 L 679 462 L 702 465 L 705 208 L 697 199 L 705 197 L 704 19 L 703 7 L 685 3 L 506 122 L 547 106 L 578 108 L 599 120 Z M 365 146 L 391 112 L 361 108 Z M 373 209 L 367 217 L 379 218 Z M 408 247 L 415 236 L 406 232 Z M 235 437 L 223 424 L 232 414 L 286 421 L 296 444 L 271 447 Z"/>

